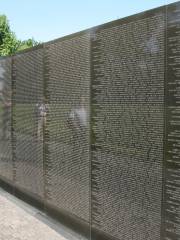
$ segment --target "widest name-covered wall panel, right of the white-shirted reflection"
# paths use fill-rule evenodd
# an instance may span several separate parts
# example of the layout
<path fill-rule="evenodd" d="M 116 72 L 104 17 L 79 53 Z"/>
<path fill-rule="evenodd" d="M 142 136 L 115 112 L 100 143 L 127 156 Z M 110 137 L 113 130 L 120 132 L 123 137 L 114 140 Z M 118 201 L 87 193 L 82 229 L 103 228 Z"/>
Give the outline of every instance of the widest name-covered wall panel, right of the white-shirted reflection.
<path fill-rule="evenodd" d="M 164 134 L 160 9 L 96 29 L 92 42 L 92 227 L 159 240 Z"/>

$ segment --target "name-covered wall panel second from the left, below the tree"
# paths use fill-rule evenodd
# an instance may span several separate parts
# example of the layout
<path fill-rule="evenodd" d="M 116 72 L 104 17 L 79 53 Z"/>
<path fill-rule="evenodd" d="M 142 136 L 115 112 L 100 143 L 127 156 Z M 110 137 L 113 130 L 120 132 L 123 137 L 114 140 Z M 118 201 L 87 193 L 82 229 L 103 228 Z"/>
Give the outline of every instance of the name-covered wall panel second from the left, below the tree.
<path fill-rule="evenodd" d="M 43 138 L 38 136 L 38 106 L 43 102 L 43 49 L 13 57 L 15 183 L 43 197 Z M 43 129 L 41 129 L 43 131 Z"/>

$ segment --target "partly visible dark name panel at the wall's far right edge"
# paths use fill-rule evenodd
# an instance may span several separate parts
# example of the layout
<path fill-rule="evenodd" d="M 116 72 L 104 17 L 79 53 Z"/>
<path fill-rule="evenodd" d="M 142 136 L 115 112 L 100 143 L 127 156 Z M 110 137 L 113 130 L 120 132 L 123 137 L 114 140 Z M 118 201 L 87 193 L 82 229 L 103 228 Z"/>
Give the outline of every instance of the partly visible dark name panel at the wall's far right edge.
<path fill-rule="evenodd" d="M 180 4 L 167 8 L 163 239 L 180 239 Z"/>

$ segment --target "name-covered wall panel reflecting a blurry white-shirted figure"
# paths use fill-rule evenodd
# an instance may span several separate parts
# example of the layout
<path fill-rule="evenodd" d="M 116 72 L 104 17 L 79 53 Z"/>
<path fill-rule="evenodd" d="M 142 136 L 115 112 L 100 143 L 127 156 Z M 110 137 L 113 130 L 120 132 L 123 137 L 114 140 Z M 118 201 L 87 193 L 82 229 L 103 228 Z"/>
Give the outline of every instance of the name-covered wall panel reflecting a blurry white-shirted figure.
<path fill-rule="evenodd" d="M 47 202 L 89 222 L 90 35 L 46 45 Z"/>

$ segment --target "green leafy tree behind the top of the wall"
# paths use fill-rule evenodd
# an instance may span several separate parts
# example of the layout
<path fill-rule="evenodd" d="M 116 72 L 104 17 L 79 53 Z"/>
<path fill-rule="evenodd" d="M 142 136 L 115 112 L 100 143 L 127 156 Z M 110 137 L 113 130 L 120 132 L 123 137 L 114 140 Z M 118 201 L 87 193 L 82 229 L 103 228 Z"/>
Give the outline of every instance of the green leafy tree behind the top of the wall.
<path fill-rule="evenodd" d="M 15 33 L 11 31 L 7 17 L 0 15 L 0 56 L 12 55 L 38 44 L 33 38 L 24 41 L 18 40 Z"/>

